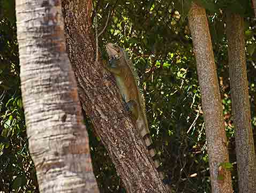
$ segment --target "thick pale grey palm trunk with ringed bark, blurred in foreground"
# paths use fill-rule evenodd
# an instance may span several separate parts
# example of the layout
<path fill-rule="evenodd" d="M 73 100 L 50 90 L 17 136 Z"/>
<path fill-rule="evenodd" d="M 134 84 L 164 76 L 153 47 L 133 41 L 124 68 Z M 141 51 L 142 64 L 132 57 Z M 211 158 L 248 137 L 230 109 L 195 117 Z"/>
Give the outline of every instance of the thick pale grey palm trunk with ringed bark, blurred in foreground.
<path fill-rule="evenodd" d="M 61 1 L 17 0 L 22 102 L 40 192 L 99 192 Z"/>

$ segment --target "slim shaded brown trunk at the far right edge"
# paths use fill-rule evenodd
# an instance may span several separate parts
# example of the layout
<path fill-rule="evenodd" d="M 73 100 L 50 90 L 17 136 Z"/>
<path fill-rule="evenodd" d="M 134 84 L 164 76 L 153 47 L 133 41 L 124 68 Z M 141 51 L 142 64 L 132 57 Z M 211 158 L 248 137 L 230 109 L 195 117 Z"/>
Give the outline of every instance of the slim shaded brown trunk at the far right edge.
<path fill-rule="evenodd" d="M 227 37 L 239 192 L 253 193 L 256 192 L 256 160 L 246 74 L 244 18 L 228 14 Z"/>

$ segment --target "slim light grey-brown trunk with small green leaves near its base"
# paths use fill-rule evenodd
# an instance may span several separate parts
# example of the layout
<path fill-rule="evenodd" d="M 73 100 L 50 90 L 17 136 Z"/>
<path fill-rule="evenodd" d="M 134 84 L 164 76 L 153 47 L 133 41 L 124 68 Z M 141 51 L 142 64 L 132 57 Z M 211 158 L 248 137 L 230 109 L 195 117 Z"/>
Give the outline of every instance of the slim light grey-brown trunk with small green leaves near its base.
<path fill-rule="evenodd" d="M 205 9 L 194 3 L 189 12 L 189 26 L 204 110 L 212 192 L 231 193 L 231 174 L 220 167 L 221 163 L 229 162 L 229 157 L 212 41 Z M 218 176 L 223 179 L 218 179 Z"/>

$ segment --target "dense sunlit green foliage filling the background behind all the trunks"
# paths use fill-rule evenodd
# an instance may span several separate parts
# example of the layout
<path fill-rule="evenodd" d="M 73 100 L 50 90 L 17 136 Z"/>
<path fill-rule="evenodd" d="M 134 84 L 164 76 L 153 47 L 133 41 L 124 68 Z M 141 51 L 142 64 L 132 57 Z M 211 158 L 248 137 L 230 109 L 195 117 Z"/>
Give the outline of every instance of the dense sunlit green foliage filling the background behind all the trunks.
<path fill-rule="evenodd" d="M 35 169 L 28 153 L 21 103 L 18 46 L 12 6 L 14 1 L 10 1 L 10 4 L 7 3 L 9 1 L 3 2 L 0 8 L 5 10 L 1 11 L 3 14 L 0 16 L 0 191 L 36 192 Z M 131 53 L 145 92 L 150 132 L 159 150 L 163 171 L 169 176 L 174 192 L 210 192 L 200 88 L 186 20 L 190 1 L 174 2 L 94 2 L 99 32 L 106 23 L 108 11 L 112 13 L 99 44 L 104 60 L 107 59 L 104 52 L 106 42 L 117 43 Z M 252 10 L 249 2 L 242 0 L 217 1 L 215 4 L 215 1 L 197 2 L 206 7 L 208 12 L 230 162 L 234 163 L 232 180 L 234 190 L 238 192 L 224 22 L 225 11 L 250 17 Z M 255 24 L 255 20 L 246 18 L 247 72 L 254 130 Z M 107 151 L 94 135 L 89 119 L 86 124 L 94 172 L 101 192 L 125 192 Z"/>

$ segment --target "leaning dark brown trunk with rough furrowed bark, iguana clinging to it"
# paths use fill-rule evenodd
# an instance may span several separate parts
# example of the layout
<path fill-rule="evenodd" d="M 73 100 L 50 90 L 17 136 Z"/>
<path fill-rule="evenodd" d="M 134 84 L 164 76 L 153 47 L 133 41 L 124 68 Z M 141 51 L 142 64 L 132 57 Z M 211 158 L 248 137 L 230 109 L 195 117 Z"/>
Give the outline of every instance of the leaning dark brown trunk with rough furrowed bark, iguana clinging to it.
<path fill-rule="evenodd" d="M 63 1 L 66 45 L 79 98 L 127 192 L 166 192 L 112 75 L 95 62 L 92 0 Z"/>

